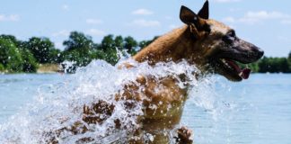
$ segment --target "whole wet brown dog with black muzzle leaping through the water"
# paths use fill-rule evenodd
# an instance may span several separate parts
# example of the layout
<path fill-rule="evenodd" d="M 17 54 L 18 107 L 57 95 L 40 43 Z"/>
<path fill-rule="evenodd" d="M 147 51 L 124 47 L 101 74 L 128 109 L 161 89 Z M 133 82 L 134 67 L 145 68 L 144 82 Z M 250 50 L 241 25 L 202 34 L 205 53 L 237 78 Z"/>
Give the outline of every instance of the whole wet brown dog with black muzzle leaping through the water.
<path fill-rule="evenodd" d="M 137 62 L 148 61 L 154 67 L 158 62 L 180 62 L 186 60 L 198 67 L 203 73 L 217 73 L 232 81 L 247 79 L 251 70 L 241 69 L 235 63 L 243 64 L 254 62 L 263 56 L 263 51 L 249 42 L 236 37 L 230 27 L 215 20 L 208 19 L 208 2 L 195 14 L 189 8 L 181 6 L 181 22 L 185 23 L 179 29 L 173 30 L 157 40 L 154 40 L 145 49 L 142 49 L 133 58 Z M 133 67 L 126 64 L 128 68 Z M 177 135 L 171 138 L 163 133 L 163 130 L 173 130 L 181 121 L 181 114 L 185 101 L 187 100 L 187 89 L 177 85 L 177 79 L 167 76 L 156 80 L 151 76 L 140 76 L 137 83 L 125 85 L 124 93 L 116 94 L 116 101 L 128 101 L 128 109 L 133 106 L 133 101 L 143 103 L 144 115 L 138 118 L 140 127 L 131 131 L 128 143 L 145 143 L 145 135 L 153 138 L 147 143 L 166 144 L 175 139 L 177 143 L 192 143 L 191 132 L 185 127 L 176 130 Z M 137 92 L 138 87 L 145 87 Z M 156 92 L 155 87 L 163 87 Z M 144 97 L 143 97 L 144 96 Z M 168 105 L 172 106 L 169 108 Z M 157 105 L 155 109 L 151 105 Z M 114 111 L 112 103 L 96 102 L 84 106 L 82 121 L 87 124 L 99 124 L 106 120 L 106 116 Z M 117 119 L 116 129 L 121 129 L 121 123 Z M 61 132 L 85 133 L 88 128 L 77 121 L 70 128 L 57 130 Z M 79 141 L 92 141 L 93 138 L 79 139 Z M 96 139 L 95 139 L 96 140 Z M 57 143 L 51 139 L 51 143 Z"/>

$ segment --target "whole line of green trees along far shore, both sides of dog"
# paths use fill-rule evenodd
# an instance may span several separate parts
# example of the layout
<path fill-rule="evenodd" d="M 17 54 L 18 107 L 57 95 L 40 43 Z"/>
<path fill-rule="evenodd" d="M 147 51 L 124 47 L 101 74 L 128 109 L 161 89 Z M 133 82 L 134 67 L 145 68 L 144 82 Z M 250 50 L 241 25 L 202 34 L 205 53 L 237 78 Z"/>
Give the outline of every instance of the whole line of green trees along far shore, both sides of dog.
<path fill-rule="evenodd" d="M 74 61 L 75 67 L 86 66 L 93 59 L 104 59 L 114 65 L 119 60 L 118 50 L 134 55 L 153 40 L 137 41 L 130 36 L 107 35 L 101 43 L 95 43 L 91 36 L 72 31 L 63 42 L 65 49 L 61 51 L 48 38 L 32 37 L 23 41 L 13 35 L 0 35 L 0 72 L 34 73 L 40 64 L 60 64 L 66 60 Z M 260 73 L 290 73 L 291 52 L 287 58 L 261 58 L 249 67 Z"/>

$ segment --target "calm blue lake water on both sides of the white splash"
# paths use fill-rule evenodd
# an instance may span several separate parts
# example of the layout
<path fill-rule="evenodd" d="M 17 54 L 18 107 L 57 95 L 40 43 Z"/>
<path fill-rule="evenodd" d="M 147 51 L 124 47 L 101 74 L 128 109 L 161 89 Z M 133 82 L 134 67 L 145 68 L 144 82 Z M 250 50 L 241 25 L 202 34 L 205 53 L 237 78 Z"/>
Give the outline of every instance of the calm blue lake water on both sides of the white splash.
<path fill-rule="evenodd" d="M 40 93 L 41 86 L 57 84 L 68 77 L 0 75 L 0 126 L 22 112 L 22 107 Z M 214 88 L 210 91 L 214 97 L 209 100 L 215 103 L 214 107 L 207 109 L 190 101 L 183 113 L 181 123 L 194 130 L 195 143 L 291 143 L 291 75 L 254 74 L 241 83 L 216 76 Z"/>

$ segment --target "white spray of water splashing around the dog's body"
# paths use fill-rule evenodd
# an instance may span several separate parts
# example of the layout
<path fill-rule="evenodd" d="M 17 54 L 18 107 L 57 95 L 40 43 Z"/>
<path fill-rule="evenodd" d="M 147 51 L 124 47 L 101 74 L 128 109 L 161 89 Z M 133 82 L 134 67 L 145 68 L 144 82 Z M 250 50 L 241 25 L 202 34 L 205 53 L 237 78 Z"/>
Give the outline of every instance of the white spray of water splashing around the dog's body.
<path fill-rule="evenodd" d="M 85 133 L 61 133 L 60 143 L 75 143 L 78 139 L 94 138 L 97 143 L 111 143 L 119 140 L 126 142 L 128 133 L 139 127 L 138 116 L 143 115 L 143 105 L 132 102 L 134 106 L 128 110 L 125 101 L 115 101 L 115 95 L 122 93 L 124 85 L 136 82 L 138 76 L 154 76 L 155 79 L 173 76 L 177 85 L 190 86 L 190 103 L 194 103 L 207 111 L 216 113 L 216 99 L 213 84 L 215 79 L 209 76 L 197 78 L 199 70 L 186 61 L 180 63 L 158 63 L 155 67 L 146 62 L 137 63 L 129 59 L 131 68 L 119 68 L 123 60 L 115 67 L 103 60 L 95 60 L 87 67 L 76 70 L 63 83 L 41 85 L 34 102 L 15 114 L 4 125 L 0 125 L 0 141 L 4 143 L 45 143 L 49 131 L 72 127 L 76 121 L 89 129 Z M 194 74 L 194 75 L 193 75 Z M 180 76 L 185 75 L 186 81 Z M 115 105 L 114 111 L 101 124 L 88 125 L 82 120 L 84 105 L 96 102 Z M 115 129 L 115 120 L 120 120 L 122 129 Z M 128 132 L 129 131 L 129 132 Z M 152 137 L 148 137 L 151 140 Z"/>

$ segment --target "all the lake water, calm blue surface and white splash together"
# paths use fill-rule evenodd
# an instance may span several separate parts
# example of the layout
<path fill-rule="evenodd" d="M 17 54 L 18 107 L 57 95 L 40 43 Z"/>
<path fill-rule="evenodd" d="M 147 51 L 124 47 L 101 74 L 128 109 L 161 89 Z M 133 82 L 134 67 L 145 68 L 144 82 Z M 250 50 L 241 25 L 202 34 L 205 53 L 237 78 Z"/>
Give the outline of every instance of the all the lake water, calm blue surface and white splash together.
<path fill-rule="evenodd" d="M 2 143 L 11 139 L 15 143 L 38 143 L 40 132 L 80 119 L 78 114 L 84 103 L 96 99 L 110 101 L 110 94 L 116 93 L 128 81 L 134 81 L 138 75 L 162 77 L 184 71 L 197 72 L 186 63 L 137 67 L 119 70 L 95 61 L 75 75 L 0 75 L 0 140 Z M 194 130 L 195 143 L 290 143 L 290 75 L 251 75 L 242 83 L 210 76 L 198 81 L 192 79 L 191 85 L 181 125 Z M 121 103 L 116 104 L 120 107 L 114 117 L 142 114 L 138 104 L 132 112 L 126 112 Z M 81 110 L 72 110 L 72 107 Z M 60 124 L 57 120 L 62 117 L 69 121 Z M 123 121 L 125 125 L 135 121 L 134 117 L 124 120 L 127 120 Z M 103 127 L 110 127 L 110 120 Z M 102 127 L 93 129 L 98 134 L 108 132 Z M 122 135 L 122 132 L 109 132 L 116 137 Z M 95 136 L 96 133 L 87 134 Z M 75 139 L 72 136 L 63 142 L 71 143 Z"/>

